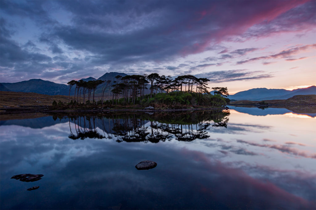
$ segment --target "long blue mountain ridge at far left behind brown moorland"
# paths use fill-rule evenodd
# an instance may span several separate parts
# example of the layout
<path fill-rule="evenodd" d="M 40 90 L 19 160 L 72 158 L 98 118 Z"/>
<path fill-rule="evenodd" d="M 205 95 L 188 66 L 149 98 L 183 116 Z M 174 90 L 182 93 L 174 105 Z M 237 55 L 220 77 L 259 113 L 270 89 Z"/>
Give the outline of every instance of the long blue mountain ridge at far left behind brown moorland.
<path fill-rule="evenodd" d="M 42 79 L 30 79 L 15 83 L 1 83 L 5 88 L 14 92 L 32 92 L 46 95 L 65 95 L 69 94 L 68 85 L 57 84 Z M 74 90 L 72 91 L 72 94 Z M 71 93 L 70 93 L 71 94 Z"/>

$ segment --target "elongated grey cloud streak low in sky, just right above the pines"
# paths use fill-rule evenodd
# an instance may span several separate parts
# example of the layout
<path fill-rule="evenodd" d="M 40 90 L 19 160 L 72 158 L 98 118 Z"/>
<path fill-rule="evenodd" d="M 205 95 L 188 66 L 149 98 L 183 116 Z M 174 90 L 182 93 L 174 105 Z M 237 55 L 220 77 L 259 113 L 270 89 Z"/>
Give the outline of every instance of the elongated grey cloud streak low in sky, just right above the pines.
<path fill-rule="evenodd" d="M 212 71 L 207 73 L 200 73 L 194 75 L 196 77 L 203 77 L 210 79 L 211 82 L 231 82 L 238 80 L 253 80 L 264 79 L 273 77 L 270 73 L 264 73 L 263 71 L 249 71 L 247 69 L 236 69 L 227 71 Z"/>

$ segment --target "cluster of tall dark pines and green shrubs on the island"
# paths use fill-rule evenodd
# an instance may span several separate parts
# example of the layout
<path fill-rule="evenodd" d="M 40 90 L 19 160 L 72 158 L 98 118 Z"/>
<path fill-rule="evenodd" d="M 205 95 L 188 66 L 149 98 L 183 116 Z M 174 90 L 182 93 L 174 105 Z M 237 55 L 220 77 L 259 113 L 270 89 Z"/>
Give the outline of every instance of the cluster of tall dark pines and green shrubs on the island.
<path fill-rule="evenodd" d="M 71 80 L 68 82 L 70 90 L 75 87 L 73 102 L 85 102 L 92 104 L 165 104 L 165 105 L 188 105 L 188 106 L 222 106 L 229 102 L 227 88 L 213 87 L 214 95 L 210 94 L 207 78 L 197 78 L 193 75 L 182 75 L 173 79 L 171 76 L 160 76 L 158 73 L 149 75 L 117 75 L 114 81 L 111 80 Z M 101 85 L 101 100 L 94 101 L 95 90 Z M 148 88 L 149 85 L 149 88 Z M 145 94 L 145 90 L 147 94 Z M 107 100 L 104 95 L 108 93 Z M 110 102 L 110 92 L 112 99 Z M 88 99 L 86 101 L 86 99 Z M 92 102 L 91 102 L 92 100 Z"/>

